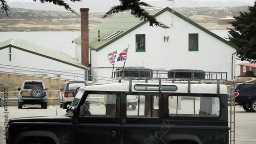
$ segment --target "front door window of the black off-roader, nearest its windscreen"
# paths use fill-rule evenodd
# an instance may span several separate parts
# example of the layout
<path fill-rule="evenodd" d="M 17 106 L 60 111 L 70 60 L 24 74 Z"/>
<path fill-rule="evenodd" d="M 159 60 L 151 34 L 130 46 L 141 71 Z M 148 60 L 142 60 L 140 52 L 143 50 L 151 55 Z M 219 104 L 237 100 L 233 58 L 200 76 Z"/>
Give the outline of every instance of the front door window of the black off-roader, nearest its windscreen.
<path fill-rule="evenodd" d="M 84 117 L 116 117 L 115 94 L 89 94 L 87 99 L 90 99 L 90 108 L 87 108 Z"/>

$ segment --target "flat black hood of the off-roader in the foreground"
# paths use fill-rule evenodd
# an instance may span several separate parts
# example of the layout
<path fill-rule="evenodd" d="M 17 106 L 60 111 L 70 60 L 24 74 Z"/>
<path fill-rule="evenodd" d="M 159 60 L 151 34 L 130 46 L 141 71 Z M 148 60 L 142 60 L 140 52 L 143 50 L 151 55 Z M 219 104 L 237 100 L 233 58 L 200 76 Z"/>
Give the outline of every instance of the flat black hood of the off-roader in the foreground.
<path fill-rule="evenodd" d="M 16 122 L 45 122 L 45 123 L 71 123 L 71 117 L 68 115 L 60 115 L 60 116 L 30 116 L 30 117 L 18 117 L 9 119 L 8 124 L 16 123 Z"/>

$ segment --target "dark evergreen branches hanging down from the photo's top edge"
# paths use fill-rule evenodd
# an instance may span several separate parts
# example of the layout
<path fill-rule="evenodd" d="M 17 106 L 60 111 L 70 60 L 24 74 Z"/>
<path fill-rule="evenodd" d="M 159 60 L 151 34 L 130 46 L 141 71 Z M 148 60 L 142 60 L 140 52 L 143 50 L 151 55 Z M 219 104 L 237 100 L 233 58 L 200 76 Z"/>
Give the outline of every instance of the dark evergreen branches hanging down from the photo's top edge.
<path fill-rule="evenodd" d="M 71 11 L 77 14 L 66 2 L 65 0 L 33 0 L 34 2 L 39 1 L 40 3 L 53 3 L 54 5 L 63 6 L 66 10 Z M 81 0 L 70 0 L 71 2 L 80 2 Z M 131 10 L 131 14 L 140 18 L 140 20 L 147 20 L 150 22 L 150 26 L 162 27 L 164 29 L 169 28 L 165 26 L 163 23 L 157 21 L 157 19 L 146 12 L 142 7 L 152 7 L 145 2 L 140 2 L 140 0 L 119 0 L 121 2 L 120 5 L 112 7 L 108 12 L 105 13 L 104 17 L 109 16 L 113 13 L 123 12 Z M 10 7 L 7 5 L 7 0 L 0 0 L 1 10 L 6 12 L 8 15 L 8 11 Z"/>

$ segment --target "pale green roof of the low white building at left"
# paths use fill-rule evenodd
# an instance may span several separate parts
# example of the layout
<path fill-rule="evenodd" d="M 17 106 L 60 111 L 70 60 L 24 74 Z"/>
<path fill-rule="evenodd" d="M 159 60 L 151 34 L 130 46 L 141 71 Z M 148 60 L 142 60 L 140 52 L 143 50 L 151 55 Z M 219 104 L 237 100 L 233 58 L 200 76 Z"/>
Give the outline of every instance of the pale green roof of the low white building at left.
<path fill-rule="evenodd" d="M 80 62 L 76 61 L 70 55 L 52 50 L 48 47 L 41 46 L 23 39 L 12 38 L 5 41 L 0 42 L 0 50 L 5 49 L 6 47 L 14 47 L 15 49 L 22 50 L 28 53 L 32 53 L 38 56 L 42 56 L 45 58 L 49 58 L 55 61 L 59 61 L 62 63 L 66 63 L 78 68 L 86 68 L 86 66 L 82 65 Z"/>

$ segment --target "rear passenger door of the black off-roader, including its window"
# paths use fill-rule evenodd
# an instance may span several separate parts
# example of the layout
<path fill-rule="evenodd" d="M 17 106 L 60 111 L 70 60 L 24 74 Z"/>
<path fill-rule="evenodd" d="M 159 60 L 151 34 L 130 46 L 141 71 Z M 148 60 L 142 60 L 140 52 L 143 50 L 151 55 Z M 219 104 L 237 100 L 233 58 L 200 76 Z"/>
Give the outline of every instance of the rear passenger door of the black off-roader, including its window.
<path fill-rule="evenodd" d="M 135 109 L 129 105 L 131 95 L 138 97 Z M 122 142 L 157 143 L 161 136 L 159 93 L 123 93 L 123 116 L 121 118 Z"/>

